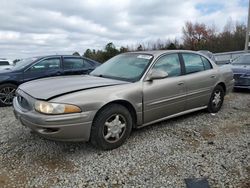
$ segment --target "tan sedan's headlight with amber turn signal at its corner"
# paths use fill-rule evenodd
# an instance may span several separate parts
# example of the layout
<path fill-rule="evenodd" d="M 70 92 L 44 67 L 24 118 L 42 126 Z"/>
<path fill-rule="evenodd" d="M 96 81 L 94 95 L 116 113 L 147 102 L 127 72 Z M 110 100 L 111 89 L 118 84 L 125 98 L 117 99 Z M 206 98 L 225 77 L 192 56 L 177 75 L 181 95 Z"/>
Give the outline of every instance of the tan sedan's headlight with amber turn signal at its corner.
<path fill-rule="evenodd" d="M 75 105 L 49 103 L 45 101 L 36 101 L 35 110 L 44 114 L 70 114 L 81 112 L 81 109 Z"/>

